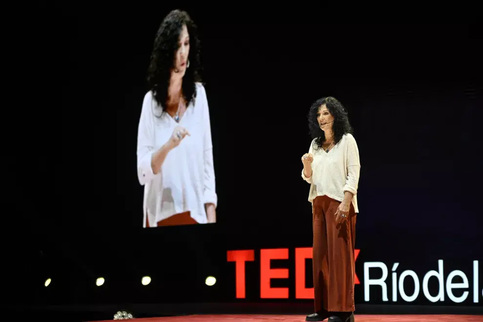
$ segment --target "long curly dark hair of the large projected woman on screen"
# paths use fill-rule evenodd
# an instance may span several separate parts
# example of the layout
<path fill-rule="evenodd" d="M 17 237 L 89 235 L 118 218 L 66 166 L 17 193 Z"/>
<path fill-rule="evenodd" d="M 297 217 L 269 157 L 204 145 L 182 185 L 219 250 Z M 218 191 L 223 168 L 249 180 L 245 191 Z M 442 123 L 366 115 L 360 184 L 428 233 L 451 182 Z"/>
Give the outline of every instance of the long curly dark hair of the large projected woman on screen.
<path fill-rule="evenodd" d="M 195 100 L 196 82 L 201 81 L 198 27 L 185 11 L 173 10 L 161 22 L 156 34 L 147 76 L 149 90 L 153 92 L 153 96 L 163 112 L 166 108 L 171 69 L 175 63 L 175 54 L 180 47 L 180 34 L 184 25 L 188 30 L 190 43 L 189 67 L 186 68 L 182 82 L 182 93 L 187 102 L 186 105 Z"/>

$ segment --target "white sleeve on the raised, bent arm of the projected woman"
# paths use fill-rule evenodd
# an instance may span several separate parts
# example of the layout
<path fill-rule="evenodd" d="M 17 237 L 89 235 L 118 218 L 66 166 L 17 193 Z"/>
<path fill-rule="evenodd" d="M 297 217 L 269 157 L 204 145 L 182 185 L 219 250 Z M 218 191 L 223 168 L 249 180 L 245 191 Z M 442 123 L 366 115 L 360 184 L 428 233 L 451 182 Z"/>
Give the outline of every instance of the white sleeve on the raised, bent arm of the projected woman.
<path fill-rule="evenodd" d="M 153 142 L 152 95 L 148 92 L 142 101 L 141 116 L 138 125 L 137 167 L 141 185 L 151 181 L 155 174 L 151 167 L 151 156 L 156 151 Z"/>

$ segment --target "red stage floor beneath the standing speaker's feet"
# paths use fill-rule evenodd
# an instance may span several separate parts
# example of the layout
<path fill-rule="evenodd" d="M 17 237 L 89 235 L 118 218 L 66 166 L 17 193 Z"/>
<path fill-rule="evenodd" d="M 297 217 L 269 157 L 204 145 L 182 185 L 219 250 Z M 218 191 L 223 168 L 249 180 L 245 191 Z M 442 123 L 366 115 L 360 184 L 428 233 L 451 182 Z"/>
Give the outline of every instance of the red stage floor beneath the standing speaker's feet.
<path fill-rule="evenodd" d="M 483 321 L 483 316 L 475 315 L 357 315 L 356 322 L 476 322 Z M 108 322 L 104 320 L 96 322 Z M 189 315 L 179 317 L 135 319 L 140 322 L 300 322 L 304 315 Z M 327 320 L 325 320 L 327 321 Z M 93 321 L 94 322 L 94 321 Z"/>

